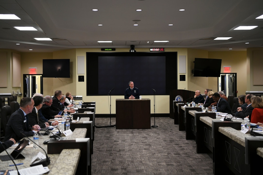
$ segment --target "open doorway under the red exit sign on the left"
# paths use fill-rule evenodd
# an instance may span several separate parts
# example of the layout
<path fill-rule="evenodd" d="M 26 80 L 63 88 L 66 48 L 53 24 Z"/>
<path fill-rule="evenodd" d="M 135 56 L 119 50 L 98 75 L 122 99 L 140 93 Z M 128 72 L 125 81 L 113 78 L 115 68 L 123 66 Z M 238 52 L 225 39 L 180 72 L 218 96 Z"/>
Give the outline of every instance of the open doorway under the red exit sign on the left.
<path fill-rule="evenodd" d="M 32 97 L 36 93 L 43 94 L 42 74 L 23 74 L 23 97 Z"/>

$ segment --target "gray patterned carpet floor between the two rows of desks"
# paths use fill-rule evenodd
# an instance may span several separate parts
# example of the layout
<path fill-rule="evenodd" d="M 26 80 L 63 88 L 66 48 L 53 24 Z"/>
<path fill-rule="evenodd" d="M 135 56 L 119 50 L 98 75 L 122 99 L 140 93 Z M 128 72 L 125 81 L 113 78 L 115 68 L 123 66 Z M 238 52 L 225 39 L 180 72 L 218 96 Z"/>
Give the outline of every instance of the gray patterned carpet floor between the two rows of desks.
<path fill-rule="evenodd" d="M 96 126 L 109 124 L 109 118 L 95 119 Z M 156 125 L 134 130 L 95 128 L 92 174 L 213 174 L 213 160 L 196 153 L 195 141 L 185 140 L 185 131 L 179 131 L 173 119 L 156 117 Z"/>

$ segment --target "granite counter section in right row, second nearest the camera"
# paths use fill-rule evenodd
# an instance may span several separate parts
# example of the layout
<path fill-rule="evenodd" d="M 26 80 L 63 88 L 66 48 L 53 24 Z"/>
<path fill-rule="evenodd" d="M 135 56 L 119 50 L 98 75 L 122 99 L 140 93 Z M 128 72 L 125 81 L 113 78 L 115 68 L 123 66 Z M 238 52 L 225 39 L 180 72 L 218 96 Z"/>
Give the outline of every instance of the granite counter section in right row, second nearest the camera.
<path fill-rule="evenodd" d="M 251 137 L 249 132 L 244 134 L 239 130 L 235 130 L 234 128 L 231 127 L 219 127 L 218 131 L 244 147 L 245 147 L 245 137 Z"/>

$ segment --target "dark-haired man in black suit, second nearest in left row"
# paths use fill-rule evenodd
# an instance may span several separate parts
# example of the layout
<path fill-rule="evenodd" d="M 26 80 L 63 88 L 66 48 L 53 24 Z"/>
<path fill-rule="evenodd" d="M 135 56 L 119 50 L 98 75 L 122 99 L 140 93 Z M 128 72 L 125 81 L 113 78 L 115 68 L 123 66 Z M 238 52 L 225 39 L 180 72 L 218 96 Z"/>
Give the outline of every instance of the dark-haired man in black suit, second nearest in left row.
<path fill-rule="evenodd" d="M 41 96 L 35 96 L 33 97 L 34 100 L 34 108 L 31 113 L 27 114 L 27 120 L 30 126 L 33 125 L 39 125 L 41 128 L 49 127 L 49 126 L 54 126 L 58 125 L 58 121 L 55 122 L 45 122 L 40 119 L 38 110 L 41 109 L 43 105 L 43 97 Z"/>

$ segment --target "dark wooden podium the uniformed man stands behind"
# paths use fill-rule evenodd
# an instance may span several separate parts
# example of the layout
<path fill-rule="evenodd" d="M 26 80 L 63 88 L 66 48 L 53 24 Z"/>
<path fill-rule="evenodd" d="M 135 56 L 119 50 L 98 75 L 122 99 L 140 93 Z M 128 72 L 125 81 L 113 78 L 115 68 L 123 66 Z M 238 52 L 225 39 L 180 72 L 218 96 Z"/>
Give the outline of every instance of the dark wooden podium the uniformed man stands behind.
<path fill-rule="evenodd" d="M 116 99 L 116 129 L 150 128 L 150 99 Z"/>

